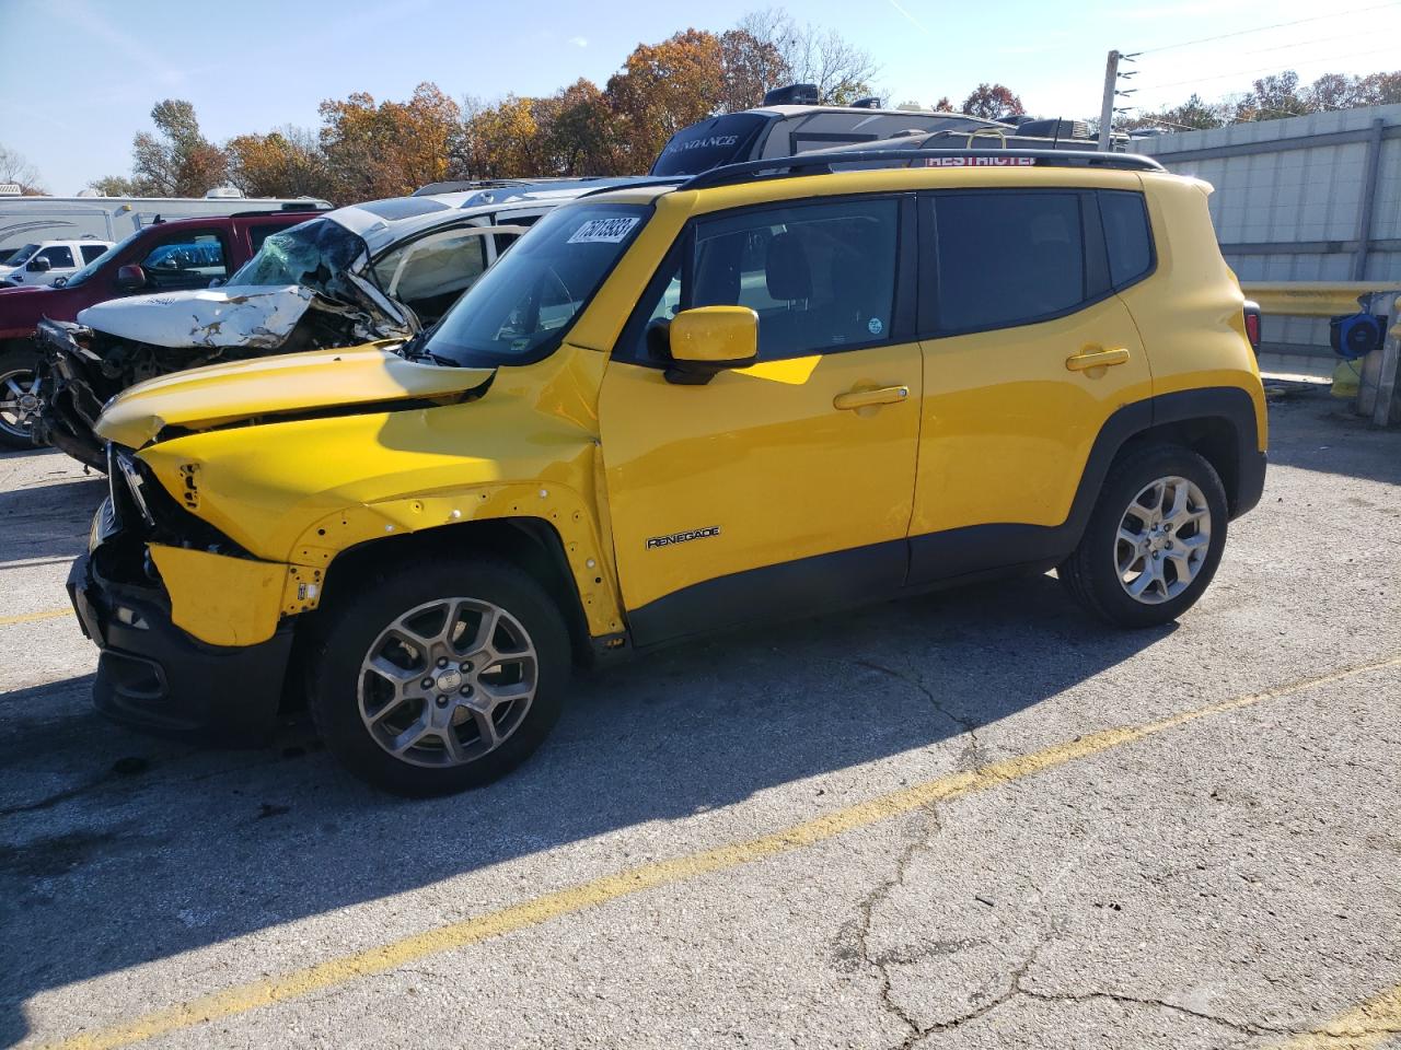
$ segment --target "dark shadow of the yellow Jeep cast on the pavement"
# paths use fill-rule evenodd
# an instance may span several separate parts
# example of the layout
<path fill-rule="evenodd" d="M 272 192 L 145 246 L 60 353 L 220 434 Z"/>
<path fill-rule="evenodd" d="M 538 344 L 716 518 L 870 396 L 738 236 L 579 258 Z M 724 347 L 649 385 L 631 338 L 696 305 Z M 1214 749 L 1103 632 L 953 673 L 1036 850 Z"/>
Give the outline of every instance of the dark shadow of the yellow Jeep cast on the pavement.
<path fill-rule="evenodd" d="M 283 924 L 467 872 L 495 885 L 492 865 L 587 840 L 593 864 L 602 850 L 608 869 L 626 868 L 637 855 L 611 833 L 894 755 L 927 752 L 934 776 L 968 769 L 986 760 L 969 729 L 1054 703 L 1170 631 L 1094 627 L 1035 577 L 730 634 L 581 676 L 523 769 L 417 802 L 350 780 L 314 748 L 199 750 L 108 725 L 91 713 L 90 679 L 3 696 L 0 1043 L 27 1035 L 31 997 L 74 981 L 276 938 Z M 877 790 L 859 783 L 853 798 Z M 832 805 L 811 794 L 768 819 Z M 542 882 L 595 874 L 560 871 L 570 857 L 539 862 Z M 458 914 L 489 907 L 453 896 Z M 441 921 L 434 907 L 415 925 Z M 42 1035 L 88 1023 L 70 1015 Z"/>

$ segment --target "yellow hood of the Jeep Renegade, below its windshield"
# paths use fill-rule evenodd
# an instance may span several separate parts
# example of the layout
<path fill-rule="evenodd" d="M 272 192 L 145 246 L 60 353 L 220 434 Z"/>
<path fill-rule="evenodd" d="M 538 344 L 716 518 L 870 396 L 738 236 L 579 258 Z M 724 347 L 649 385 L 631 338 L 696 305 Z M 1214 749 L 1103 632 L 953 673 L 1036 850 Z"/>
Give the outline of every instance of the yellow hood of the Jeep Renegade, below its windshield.
<path fill-rule="evenodd" d="M 357 405 L 384 412 L 395 402 L 451 399 L 495 374 L 490 368 L 406 361 L 385 346 L 261 357 L 150 379 L 113 398 L 97 421 L 97 433 L 142 448 L 165 427 L 207 430 L 268 416 L 315 416 Z"/>

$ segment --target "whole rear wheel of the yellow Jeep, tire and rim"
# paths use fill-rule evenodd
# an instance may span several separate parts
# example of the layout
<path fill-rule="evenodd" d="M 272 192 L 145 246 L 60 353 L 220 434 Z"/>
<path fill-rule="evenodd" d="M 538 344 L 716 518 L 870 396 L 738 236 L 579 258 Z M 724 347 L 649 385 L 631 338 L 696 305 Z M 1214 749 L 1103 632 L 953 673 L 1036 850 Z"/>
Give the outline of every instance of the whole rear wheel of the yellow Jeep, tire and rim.
<path fill-rule="evenodd" d="M 1136 448 L 1110 468 L 1080 545 L 1056 574 L 1103 620 L 1168 623 L 1216 574 L 1226 518 L 1226 489 L 1206 459 L 1180 445 Z"/>

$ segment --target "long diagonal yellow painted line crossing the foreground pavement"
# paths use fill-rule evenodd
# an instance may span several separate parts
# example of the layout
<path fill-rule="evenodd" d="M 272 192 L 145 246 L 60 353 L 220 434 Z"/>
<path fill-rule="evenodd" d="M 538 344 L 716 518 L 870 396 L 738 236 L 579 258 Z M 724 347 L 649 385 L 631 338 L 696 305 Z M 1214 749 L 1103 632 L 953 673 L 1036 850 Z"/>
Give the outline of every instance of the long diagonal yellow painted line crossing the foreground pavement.
<path fill-rule="evenodd" d="M 481 944 L 482 941 L 489 941 L 517 930 L 527 930 L 541 923 L 548 923 L 552 918 L 584 911 L 611 900 L 629 897 L 649 889 L 657 889 L 658 886 L 688 882 L 700 875 L 729 871 L 743 864 L 752 864 L 814 846 L 846 832 L 869 827 L 936 802 L 947 802 L 962 795 L 1010 784 L 1037 773 L 1045 773 L 1077 759 L 1087 759 L 1093 755 L 1175 729 L 1198 718 L 1236 711 L 1251 704 L 1258 704 L 1262 700 L 1274 700 L 1331 682 L 1341 682 L 1369 671 L 1398 665 L 1401 665 L 1401 655 L 1370 664 L 1359 664 L 1327 675 L 1299 679 L 1278 689 L 1208 704 L 1156 722 L 1147 722 L 1146 725 L 1086 734 L 1066 743 L 1058 743 L 1031 755 L 996 762 L 971 773 L 951 773 L 901 788 L 899 791 L 877 795 L 866 802 L 836 809 L 813 820 L 759 836 L 758 839 L 719 846 L 713 850 L 703 850 L 670 861 L 644 864 L 639 868 L 630 868 L 616 875 L 605 875 L 593 882 L 570 886 L 556 893 L 546 893 L 545 896 L 513 904 L 500 911 L 490 911 L 475 918 L 465 918 L 461 923 L 434 927 L 375 948 L 326 959 L 314 966 L 304 966 L 279 976 L 238 984 L 188 1002 L 179 1002 L 167 1009 L 143 1014 L 132 1021 L 119 1022 L 109 1028 L 80 1032 L 59 1043 L 50 1043 L 49 1047 L 52 1050 L 106 1050 L 108 1047 L 130 1046 L 170 1032 L 247 1014 L 259 1007 L 270 1007 L 275 1002 L 303 998 L 322 988 L 345 984 L 375 973 L 396 970 L 401 966 L 430 955 L 440 955 L 457 948 Z"/>

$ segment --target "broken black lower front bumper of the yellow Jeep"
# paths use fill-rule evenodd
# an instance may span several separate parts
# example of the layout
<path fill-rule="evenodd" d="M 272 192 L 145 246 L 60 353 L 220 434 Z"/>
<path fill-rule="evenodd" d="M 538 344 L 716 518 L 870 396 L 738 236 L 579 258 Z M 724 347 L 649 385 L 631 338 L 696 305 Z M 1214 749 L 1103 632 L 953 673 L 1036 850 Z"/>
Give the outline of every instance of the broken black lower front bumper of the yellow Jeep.
<path fill-rule="evenodd" d="M 99 511 L 101 514 L 101 511 Z M 92 699 L 115 721 L 170 736 L 255 746 L 276 724 L 293 623 L 251 645 L 210 645 L 171 622 L 153 581 L 113 580 L 98 543 L 69 574 L 83 633 L 102 651 Z"/>

